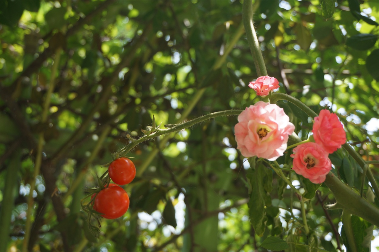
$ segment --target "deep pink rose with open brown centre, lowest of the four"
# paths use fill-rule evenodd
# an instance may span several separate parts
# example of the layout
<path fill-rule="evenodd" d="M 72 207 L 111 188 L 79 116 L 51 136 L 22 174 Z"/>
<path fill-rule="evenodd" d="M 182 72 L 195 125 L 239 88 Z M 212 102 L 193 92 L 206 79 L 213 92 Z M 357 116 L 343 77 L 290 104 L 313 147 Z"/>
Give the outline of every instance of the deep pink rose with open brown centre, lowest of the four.
<path fill-rule="evenodd" d="M 302 143 L 293 149 L 293 170 L 308 178 L 312 183 L 325 181 L 326 174 L 332 169 L 332 162 L 323 146 L 317 143 Z"/>

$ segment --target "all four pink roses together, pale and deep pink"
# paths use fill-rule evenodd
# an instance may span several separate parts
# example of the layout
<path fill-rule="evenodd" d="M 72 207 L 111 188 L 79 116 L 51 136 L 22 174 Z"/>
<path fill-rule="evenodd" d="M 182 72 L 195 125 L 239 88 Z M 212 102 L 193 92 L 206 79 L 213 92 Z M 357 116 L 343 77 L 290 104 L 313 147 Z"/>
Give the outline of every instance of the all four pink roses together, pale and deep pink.
<path fill-rule="evenodd" d="M 257 95 L 266 96 L 279 86 L 275 78 L 263 76 L 250 82 L 249 87 L 254 88 Z M 258 101 L 238 116 L 234 128 L 237 149 L 245 157 L 257 156 L 274 161 L 283 156 L 288 135 L 294 129 L 282 108 Z M 323 183 L 332 169 L 328 155 L 346 142 L 346 133 L 337 115 L 327 109 L 315 117 L 312 132 L 315 143 L 303 143 L 294 148 L 291 154 L 293 170 L 313 183 Z"/>

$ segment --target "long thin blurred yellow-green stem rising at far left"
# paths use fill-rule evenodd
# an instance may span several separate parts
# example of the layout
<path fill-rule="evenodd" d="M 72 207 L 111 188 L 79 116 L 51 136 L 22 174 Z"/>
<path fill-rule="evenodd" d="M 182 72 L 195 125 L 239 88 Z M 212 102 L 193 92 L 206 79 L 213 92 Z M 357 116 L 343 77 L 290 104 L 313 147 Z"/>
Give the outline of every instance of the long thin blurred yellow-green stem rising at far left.
<path fill-rule="evenodd" d="M 56 78 L 56 72 L 58 71 L 59 61 L 61 58 L 61 51 L 62 51 L 62 48 L 59 47 L 55 52 L 55 59 L 54 59 L 53 68 L 51 71 L 51 79 L 50 79 L 49 87 L 46 93 L 46 99 L 45 99 L 43 110 L 42 110 L 41 123 L 45 123 L 47 121 L 47 113 L 49 112 L 51 96 L 55 87 L 55 78 Z M 38 137 L 36 161 L 34 164 L 34 175 L 33 175 L 33 179 L 30 182 L 30 192 L 28 196 L 28 210 L 27 210 L 26 223 L 25 223 L 25 236 L 22 243 L 22 251 L 28 251 L 28 243 L 30 239 L 30 228 L 31 228 L 31 213 L 33 211 L 33 203 L 34 203 L 33 192 L 36 187 L 36 177 L 39 175 L 39 171 L 41 169 L 43 146 L 44 146 L 44 132 L 41 132 Z"/>

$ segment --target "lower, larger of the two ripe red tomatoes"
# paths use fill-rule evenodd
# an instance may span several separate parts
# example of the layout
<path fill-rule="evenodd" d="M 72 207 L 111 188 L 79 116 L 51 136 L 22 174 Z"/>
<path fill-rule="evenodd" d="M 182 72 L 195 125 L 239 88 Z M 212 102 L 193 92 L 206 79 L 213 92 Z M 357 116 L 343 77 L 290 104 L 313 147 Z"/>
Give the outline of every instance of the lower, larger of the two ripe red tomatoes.
<path fill-rule="evenodd" d="M 93 208 L 105 219 L 116 219 L 128 210 L 129 196 L 121 187 L 109 186 L 97 194 Z"/>

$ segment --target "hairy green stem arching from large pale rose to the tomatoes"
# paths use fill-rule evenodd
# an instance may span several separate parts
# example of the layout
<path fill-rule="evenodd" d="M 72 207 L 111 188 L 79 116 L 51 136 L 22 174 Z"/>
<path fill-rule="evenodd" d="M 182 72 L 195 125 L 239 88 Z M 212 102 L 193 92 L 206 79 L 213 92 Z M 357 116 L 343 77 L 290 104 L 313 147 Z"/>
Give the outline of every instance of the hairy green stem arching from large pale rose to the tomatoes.
<path fill-rule="evenodd" d="M 129 151 L 131 151 L 139 143 L 145 142 L 146 140 L 152 139 L 154 137 L 158 137 L 160 135 L 170 134 L 172 132 L 181 131 L 182 129 L 189 128 L 195 124 L 201 123 L 203 121 L 207 121 L 211 118 L 223 117 L 223 116 L 227 116 L 227 115 L 239 115 L 242 111 L 243 110 L 234 109 L 234 110 L 224 110 L 224 111 L 214 112 L 214 113 L 210 113 L 208 115 L 203 115 L 202 117 L 195 118 L 191 121 L 186 121 L 184 123 L 174 124 L 172 127 L 168 128 L 168 129 L 157 129 L 155 132 L 151 133 L 150 135 L 145 135 L 145 136 L 129 143 L 127 146 L 122 148 L 118 154 L 120 156 L 125 156 Z"/>

